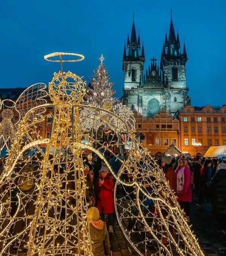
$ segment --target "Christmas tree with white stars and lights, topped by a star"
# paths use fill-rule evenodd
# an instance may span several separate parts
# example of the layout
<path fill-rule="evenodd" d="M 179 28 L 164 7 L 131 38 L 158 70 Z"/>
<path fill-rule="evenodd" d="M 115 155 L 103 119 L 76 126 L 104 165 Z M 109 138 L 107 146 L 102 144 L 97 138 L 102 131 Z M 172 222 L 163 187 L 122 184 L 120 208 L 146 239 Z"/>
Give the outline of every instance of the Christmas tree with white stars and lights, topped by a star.
<path fill-rule="evenodd" d="M 113 98 L 116 91 L 113 90 L 110 76 L 107 75 L 107 69 L 103 64 L 104 57 L 101 55 L 100 64 L 97 71 L 93 71 L 94 76 L 90 78 L 90 85 L 87 88 L 86 103 L 92 106 L 111 110 L 113 105 L 119 103 L 118 98 Z"/>

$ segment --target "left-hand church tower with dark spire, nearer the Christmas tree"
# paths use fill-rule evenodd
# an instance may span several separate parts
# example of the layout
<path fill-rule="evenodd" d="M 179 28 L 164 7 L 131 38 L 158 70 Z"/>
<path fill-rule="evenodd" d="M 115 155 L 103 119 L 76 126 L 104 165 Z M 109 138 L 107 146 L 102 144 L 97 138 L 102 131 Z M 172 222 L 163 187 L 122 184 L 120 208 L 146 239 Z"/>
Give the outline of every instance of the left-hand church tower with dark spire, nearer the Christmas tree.
<path fill-rule="evenodd" d="M 140 51 L 140 35 L 136 36 L 136 29 L 134 24 L 134 12 L 133 12 L 133 26 L 131 37 L 127 38 L 127 51 L 124 45 L 123 54 L 123 71 L 124 71 L 124 90 L 131 88 L 137 88 L 143 86 L 143 69 L 144 69 L 144 44 L 142 45 L 141 55 Z"/>

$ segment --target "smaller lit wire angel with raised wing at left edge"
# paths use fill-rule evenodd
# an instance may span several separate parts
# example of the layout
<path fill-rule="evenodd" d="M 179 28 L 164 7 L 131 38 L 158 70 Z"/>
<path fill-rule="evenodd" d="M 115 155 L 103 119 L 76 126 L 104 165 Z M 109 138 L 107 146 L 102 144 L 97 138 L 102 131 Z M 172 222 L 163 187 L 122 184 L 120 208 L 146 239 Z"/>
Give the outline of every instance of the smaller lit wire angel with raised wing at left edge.
<path fill-rule="evenodd" d="M 0 101 L 0 109 L 3 106 L 1 112 L 2 122 L 0 123 L 0 153 L 4 147 L 7 150 L 10 149 L 12 142 L 16 138 L 18 124 L 24 115 L 33 107 L 46 104 L 46 100 L 43 97 L 47 93 L 44 89 L 46 89 L 46 85 L 43 83 L 33 84 L 22 92 L 16 102 L 12 100 Z M 18 121 L 15 124 L 12 123 L 14 112 L 17 112 L 19 115 Z"/>

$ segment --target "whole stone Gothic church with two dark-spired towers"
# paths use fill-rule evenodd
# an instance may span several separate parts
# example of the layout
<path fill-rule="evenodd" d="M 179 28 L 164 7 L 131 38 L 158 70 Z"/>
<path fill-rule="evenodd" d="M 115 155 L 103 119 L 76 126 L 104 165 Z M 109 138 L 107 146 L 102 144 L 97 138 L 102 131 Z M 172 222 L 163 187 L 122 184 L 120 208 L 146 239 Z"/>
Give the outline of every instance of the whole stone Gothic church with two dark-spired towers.
<path fill-rule="evenodd" d="M 146 70 L 146 74 L 143 74 L 144 44 L 140 54 L 140 35 L 137 39 L 133 18 L 131 37 L 128 36 L 127 46 L 124 46 L 122 102 L 131 110 L 136 110 L 143 118 L 153 118 L 155 114 L 160 113 L 160 109 L 174 115 L 177 110 L 190 104 L 185 76 L 187 60 L 185 44 L 183 53 L 180 52 L 179 34 L 176 37 L 171 17 L 169 36 L 165 35 L 163 43 L 160 68 L 153 57 L 151 66 Z"/>

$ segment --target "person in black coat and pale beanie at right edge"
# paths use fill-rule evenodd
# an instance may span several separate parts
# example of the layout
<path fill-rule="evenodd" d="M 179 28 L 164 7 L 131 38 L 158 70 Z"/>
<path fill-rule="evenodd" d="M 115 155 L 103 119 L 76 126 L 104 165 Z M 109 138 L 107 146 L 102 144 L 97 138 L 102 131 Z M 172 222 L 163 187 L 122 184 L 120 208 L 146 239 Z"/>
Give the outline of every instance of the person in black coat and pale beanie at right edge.
<path fill-rule="evenodd" d="M 209 184 L 212 207 L 221 232 L 226 233 L 226 164 L 220 163 Z"/>

